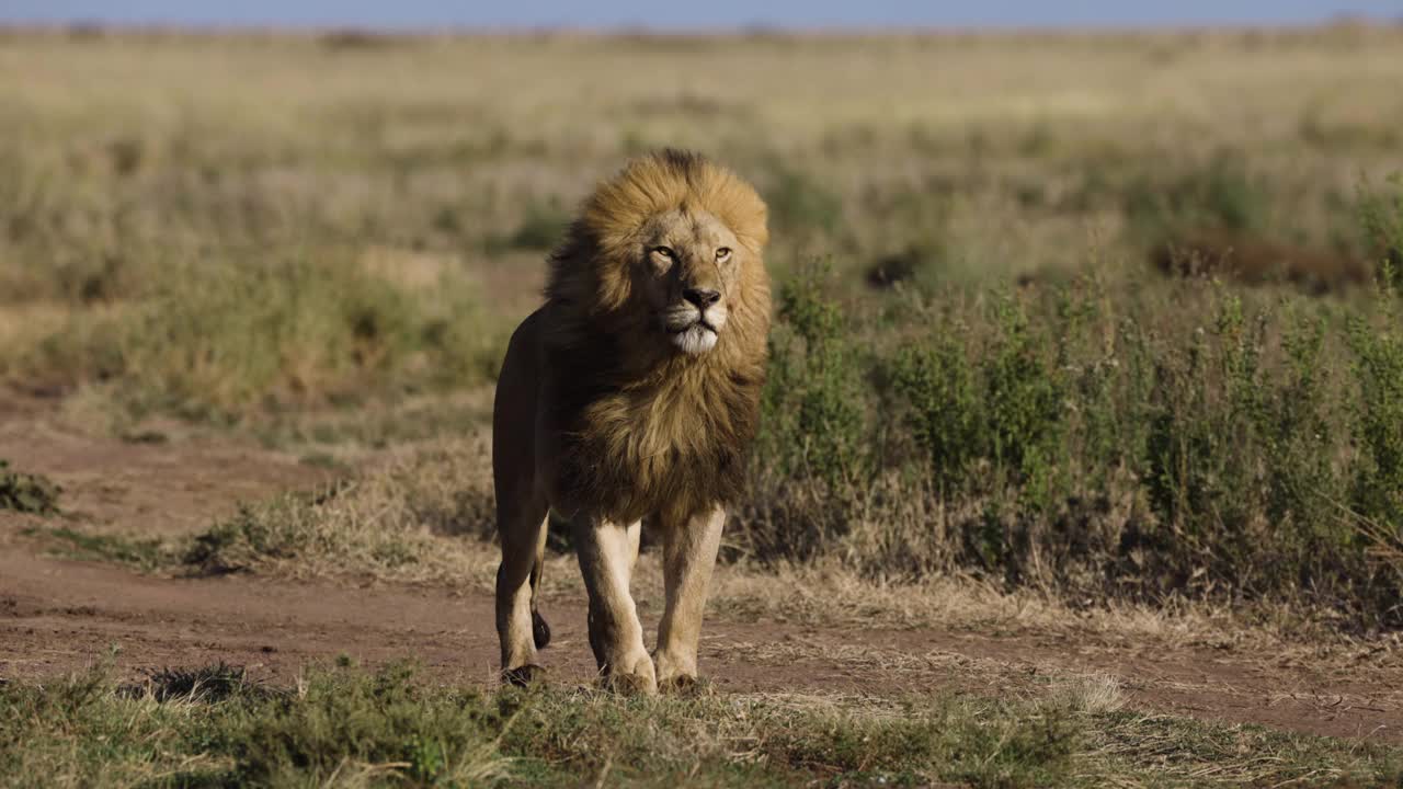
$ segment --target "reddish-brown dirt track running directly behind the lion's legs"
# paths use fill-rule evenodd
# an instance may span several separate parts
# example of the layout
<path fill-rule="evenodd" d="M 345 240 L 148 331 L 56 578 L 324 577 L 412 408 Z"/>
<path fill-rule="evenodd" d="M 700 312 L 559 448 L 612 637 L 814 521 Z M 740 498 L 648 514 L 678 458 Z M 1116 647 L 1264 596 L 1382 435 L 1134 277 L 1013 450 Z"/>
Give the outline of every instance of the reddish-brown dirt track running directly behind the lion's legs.
<path fill-rule="evenodd" d="M 558 682 L 588 682 L 584 608 L 550 601 L 543 653 Z M 654 616 L 655 618 L 655 616 Z M 115 656 L 112 656 L 112 651 Z M 445 681 L 488 684 L 491 598 L 436 588 L 351 588 L 251 577 L 167 580 L 25 552 L 0 557 L 0 677 L 34 678 L 111 658 L 123 672 L 224 660 L 292 681 L 313 661 L 412 657 Z M 1372 681 L 1200 650 L 1127 653 L 1037 633 L 860 630 L 707 623 L 703 667 L 721 691 L 1031 692 L 1080 674 L 1115 677 L 1132 706 L 1331 736 L 1403 741 L 1403 670 Z"/>

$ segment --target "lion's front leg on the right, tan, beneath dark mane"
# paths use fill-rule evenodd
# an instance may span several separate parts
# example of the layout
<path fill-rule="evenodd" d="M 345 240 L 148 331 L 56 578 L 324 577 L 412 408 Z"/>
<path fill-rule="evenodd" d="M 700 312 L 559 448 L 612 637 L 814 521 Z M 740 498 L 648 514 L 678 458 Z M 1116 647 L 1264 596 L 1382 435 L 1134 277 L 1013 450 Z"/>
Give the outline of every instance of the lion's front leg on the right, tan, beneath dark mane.
<path fill-rule="evenodd" d="M 666 609 L 658 628 L 658 685 L 689 685 L 697 678 L 697 642 L 711 569 L 721 548 L 725 510 L 662 524 L 662 573 Z"/>

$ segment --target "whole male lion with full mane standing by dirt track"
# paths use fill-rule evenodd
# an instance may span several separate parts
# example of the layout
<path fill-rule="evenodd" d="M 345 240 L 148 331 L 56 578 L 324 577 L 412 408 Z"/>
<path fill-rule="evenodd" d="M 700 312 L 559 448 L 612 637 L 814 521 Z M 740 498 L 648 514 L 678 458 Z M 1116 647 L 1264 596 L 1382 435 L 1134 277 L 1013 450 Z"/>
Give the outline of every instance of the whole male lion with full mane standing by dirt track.
<path fill-rule="evenodd" d="M 765 380 L 765 218 L 737 175 L 664 150 L 600 184 L 551 256 L 546 305 L 512 334 L 492 409 L 505 681 L 528 682 L 550 642 L 536 588 L 551 508 L 571 521 L 606 681 L 652 694 L 696 679 Z M 645 517 L 666 585 L 651 657 L 629 595 Z"/>

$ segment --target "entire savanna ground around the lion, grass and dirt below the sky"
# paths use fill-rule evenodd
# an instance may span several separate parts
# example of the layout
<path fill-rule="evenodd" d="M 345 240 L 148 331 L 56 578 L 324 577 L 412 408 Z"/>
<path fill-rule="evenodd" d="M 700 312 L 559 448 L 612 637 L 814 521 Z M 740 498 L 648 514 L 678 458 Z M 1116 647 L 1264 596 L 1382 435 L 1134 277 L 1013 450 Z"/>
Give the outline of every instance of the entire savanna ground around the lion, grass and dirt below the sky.
<path fill-rule="evenodd" d="M 0 782 L 1396 785 L 1399 86 L 1403 28 L 1364 25 L 3 31 Z M 223 663 L 260 642 L 112 625 L 368 584 L 476 605 L 505 338 L 574 205 L 664 145 L 770 205 L 703 671 L 773 674 L 498 692 L 439 661 L 495 660 L 462 635 L 366 636 L 366 665 L 289 636 L 260 677 Z M 60 567 L 93 599 L 46 602 Z M 128 583 L 168 608 L 104 614 Z M 947 661 L 941 633 L 991 640 Z M 1223 667 L 1250 671 L 1173 695 Z"/>

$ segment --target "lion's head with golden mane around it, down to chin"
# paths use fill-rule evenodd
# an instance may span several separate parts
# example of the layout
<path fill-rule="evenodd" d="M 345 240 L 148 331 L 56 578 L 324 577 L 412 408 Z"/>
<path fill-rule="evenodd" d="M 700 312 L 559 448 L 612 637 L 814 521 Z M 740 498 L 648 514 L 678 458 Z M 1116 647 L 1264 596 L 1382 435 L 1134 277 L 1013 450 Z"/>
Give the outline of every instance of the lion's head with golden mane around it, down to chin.
<path fill-rule="evenodd" d="M 575 307 L 577 330 L 629 334 L 636 351 L 753 352 L 744 336 L 755 327 L 742 324 L 769 309 L 765 218 L 753 188 L 697 154 L 637 159 L 585 202 L 551 257 L 547 295 Z"/>

